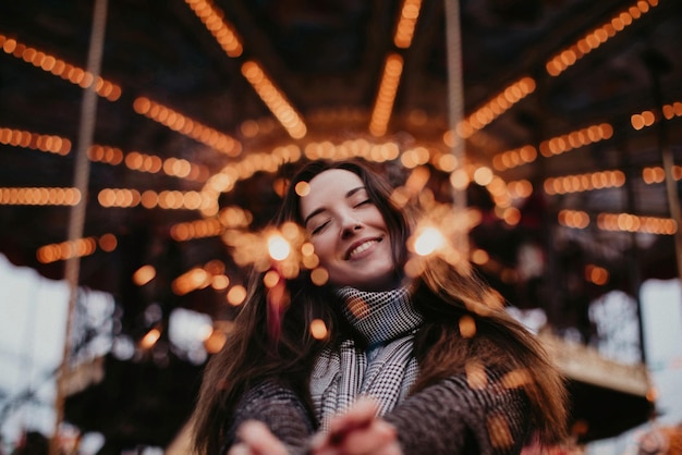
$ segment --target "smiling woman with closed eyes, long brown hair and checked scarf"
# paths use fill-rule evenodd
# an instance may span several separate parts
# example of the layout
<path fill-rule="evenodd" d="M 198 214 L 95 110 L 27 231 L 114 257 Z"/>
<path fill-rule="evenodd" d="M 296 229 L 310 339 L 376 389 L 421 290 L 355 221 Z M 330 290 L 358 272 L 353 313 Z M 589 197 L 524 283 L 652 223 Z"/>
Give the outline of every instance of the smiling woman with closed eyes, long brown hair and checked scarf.
<path fill-rule="evenodd" d="M 314 161 L 292 179 L 273 224 L 305 231 L 328 281 L 284 280 L 280 313 L 266 272 L 252 273 L 205 371 L 198 453 L 512 454 L 562 440 L 557 368 L 471 268 L 430 255 L 405 273 L 416 211 L 391 192 L 361 161 Z"/>

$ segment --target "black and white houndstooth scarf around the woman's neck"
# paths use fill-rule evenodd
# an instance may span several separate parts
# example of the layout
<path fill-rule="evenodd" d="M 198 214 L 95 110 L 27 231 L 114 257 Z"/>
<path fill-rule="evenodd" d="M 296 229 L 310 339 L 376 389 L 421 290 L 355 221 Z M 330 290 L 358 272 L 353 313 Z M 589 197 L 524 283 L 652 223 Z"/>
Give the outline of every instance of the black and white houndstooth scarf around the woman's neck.
<path fill-rule="evenodd" d="M 410 290 L 338 291 L 345 318 L 365 337 L 367 349 L 344 340 L 338 349 L 325 349 L 310 378 L 310 394 L 321 428 L 346 410 L 361 395 L 379 403 L 378 414 L 390 411 L 407 394 L 418 374 L 412 343 L 422 324 L 410 300 Z"/>

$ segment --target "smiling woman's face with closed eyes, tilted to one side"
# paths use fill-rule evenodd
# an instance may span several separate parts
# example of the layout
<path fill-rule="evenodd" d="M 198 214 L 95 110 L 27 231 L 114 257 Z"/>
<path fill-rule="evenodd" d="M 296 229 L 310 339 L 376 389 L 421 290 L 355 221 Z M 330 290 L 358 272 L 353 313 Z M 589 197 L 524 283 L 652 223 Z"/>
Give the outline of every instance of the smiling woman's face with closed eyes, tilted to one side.
<path fill-rule="evenodd" d="M 309 185 L 301 199 L 301 217 L 330 283 L 364 291 L 394 287 L 389 232 L 360 176 L 331 169 Z"/>

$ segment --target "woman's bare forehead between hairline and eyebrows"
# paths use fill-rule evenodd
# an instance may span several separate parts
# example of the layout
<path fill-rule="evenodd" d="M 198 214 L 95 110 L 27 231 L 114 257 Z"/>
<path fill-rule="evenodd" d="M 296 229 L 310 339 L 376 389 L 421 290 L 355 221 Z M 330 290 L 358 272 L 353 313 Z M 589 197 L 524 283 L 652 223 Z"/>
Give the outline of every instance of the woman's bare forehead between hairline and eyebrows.
<path fill-rule="evenodd" d="M 325 205 L 345 199 L 348 192 L 365 186 L 362 179 L 344 169 L 330 169 L 313 177 L 310 192 L 301 198 L 301 212 L 305 217 Z"/>

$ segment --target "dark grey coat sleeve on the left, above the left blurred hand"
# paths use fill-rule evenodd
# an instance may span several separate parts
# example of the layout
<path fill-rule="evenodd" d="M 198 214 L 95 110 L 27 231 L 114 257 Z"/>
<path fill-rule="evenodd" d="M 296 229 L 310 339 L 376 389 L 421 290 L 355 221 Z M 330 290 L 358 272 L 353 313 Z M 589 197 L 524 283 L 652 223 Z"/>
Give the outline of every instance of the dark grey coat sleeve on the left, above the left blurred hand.
<path fill-rule="evenodd" d="M 299 396 L 275 381 L 263 382 L 242 396 L 230 419 L 221 453 L 239 442 L 236 431 L 246 420 L 265 423 L 292 454 L 302 453 L 315 432 L 313 418 Z"/>

